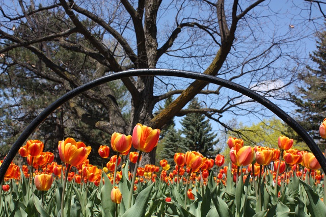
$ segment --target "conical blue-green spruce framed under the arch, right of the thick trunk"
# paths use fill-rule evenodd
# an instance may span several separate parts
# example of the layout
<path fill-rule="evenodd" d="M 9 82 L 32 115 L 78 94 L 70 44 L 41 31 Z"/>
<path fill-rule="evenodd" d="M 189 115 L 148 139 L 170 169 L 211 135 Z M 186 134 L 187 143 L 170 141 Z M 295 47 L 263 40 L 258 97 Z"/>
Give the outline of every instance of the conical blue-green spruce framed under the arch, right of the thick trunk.
<path fill-rule="evenodd" d="M 202 106 L 197 98 L 194 98 L 189 106 L 189 110 L 198 110 Z M 186 151 L 199 151 L 206 157 L 214 157 L 218 152 L 214 146 L 218 143 L 215 140 L 216 134 L 211 132 L 212 127 L 209 120 L 201 113 L 189 113 L 181 121 L 182 133 L 185 135 L 183 145 Z"/>

